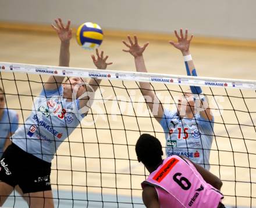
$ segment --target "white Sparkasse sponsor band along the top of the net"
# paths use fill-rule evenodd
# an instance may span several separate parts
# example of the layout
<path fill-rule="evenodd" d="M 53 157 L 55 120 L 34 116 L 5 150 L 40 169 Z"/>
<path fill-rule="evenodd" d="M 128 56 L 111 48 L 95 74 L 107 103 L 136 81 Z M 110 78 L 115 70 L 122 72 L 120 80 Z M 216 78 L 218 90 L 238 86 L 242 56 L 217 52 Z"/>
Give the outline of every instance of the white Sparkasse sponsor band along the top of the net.
<path fill-rule="evenodd" d="M 0 62 L 0 71 L 5 72 L 27 72 L 28 74 L 46 74 L 46 75 L 60 75 L 60 76 L 79 76 L 81 78 L 98 78 L 98 79 L 122 79 L 126 81 L 140 81 L 140 82 L 156 82 L 156 83 L 178 83 L 180 85 L 190 86 L 207 86 L 207 87 L 229 87 L 237 89 L 256 89 L 255 81 L 243 81 L 243 80 L 232 80 L 232 79 L 219 79 L 218 78 L 201 78 L 194 79 L 189 76 L 175 78 L 168 75 L 161 74 L 150 74 L 140 72 L 115 72 L 102 70 L 92 71 L 89 69 L 81 68 L 62 68 L 54 66 L 44 65 L 30 65 L 30 64 L 19 64 L 19 63 L 4 63 Z"/>

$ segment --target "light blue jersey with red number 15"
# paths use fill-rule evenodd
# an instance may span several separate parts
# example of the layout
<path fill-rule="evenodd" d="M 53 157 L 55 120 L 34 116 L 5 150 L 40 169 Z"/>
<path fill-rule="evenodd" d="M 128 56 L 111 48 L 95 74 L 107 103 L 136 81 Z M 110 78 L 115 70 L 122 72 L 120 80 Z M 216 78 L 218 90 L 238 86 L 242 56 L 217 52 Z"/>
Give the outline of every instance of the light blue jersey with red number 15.
<path fill-rule="evenodd" d="M 193 119 L 180 119 L 177 111 L 164 110 L 160 124 L 165 132 L 167 157 L 183 155 L 209 170 L 214 118 L 208 121 L 197 114 Z"/>

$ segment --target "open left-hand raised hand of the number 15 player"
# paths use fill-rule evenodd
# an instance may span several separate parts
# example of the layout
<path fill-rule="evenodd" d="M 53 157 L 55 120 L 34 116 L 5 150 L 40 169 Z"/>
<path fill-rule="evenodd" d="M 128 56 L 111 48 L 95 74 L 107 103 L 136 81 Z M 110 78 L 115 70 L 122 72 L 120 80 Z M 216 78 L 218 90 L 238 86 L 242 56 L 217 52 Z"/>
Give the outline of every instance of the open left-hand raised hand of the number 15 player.
<path fill-rule="evenodd" d="M 145 43 L 144 46 L 139 46 L 138 38 L 136 37 L 136 35 L 134 35 L 134 41 L 131 40 L 131 37 L 129 35 L 127 36 L 127 38 L 130 42 L 130 45 L 125 41 L 122 41 L 122 42 L 129 48 L 129 50 L 123 49 L 123 51 L 129 52 L 131 55 L 134 56 L 134 58 L 136 58 L 138 56 L 142 56 L 142 54 L 143 54 L 144 50 L 147 48 L 149 42 Z"/>

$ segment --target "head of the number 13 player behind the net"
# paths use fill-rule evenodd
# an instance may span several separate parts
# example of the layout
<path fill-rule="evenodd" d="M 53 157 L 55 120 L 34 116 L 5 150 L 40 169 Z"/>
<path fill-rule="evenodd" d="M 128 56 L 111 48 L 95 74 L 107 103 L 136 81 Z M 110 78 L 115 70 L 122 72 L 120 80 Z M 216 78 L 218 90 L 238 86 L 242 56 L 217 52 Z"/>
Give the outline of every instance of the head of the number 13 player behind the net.
<path fill-rule="evenodd" d="M 78 88 L 78 89 L 77 89 Z M 63 83 L 63 97 L 72 99 L 72 93 L 76 92 L 76 98 L 79 98 L 86 90 L 86 82 L 79 77 L 69 77 Z"/>

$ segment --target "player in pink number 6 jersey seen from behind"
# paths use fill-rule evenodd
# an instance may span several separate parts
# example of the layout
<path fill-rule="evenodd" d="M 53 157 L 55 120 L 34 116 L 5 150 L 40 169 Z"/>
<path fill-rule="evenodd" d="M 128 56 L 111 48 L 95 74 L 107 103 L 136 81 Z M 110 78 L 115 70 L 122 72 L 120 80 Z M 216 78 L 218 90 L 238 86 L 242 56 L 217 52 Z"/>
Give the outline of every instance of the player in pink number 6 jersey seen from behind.
<path fill-rule="evenodd" d="M 141 183 L 143 202 L 148 208 L 224 208 L 222 181 L 186 157 L 162 159 L 162 145 L 150 134 L 136 143 L 138 162 L 150 172 Z"/>

